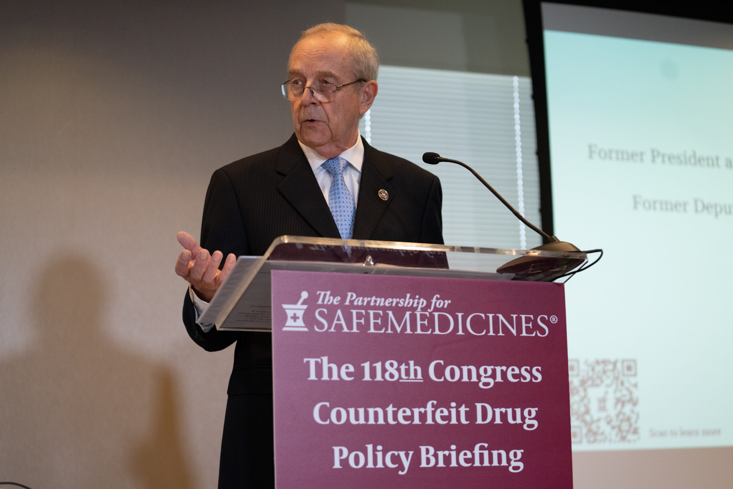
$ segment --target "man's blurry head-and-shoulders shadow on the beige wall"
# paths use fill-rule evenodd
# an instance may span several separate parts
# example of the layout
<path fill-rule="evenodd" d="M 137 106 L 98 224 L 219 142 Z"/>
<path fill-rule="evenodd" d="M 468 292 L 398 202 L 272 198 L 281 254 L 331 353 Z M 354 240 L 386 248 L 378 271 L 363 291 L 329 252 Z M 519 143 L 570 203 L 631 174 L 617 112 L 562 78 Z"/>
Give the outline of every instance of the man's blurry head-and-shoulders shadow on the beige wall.
<path fill-rule="evenodd" d="M 106 337 L 108 295 L 100 270 L 78 254 L 57 255 L 37 277 L 28 297 L 38 341 L 0 364 L 0 479 L 192 487 L 174 378 Z"/>

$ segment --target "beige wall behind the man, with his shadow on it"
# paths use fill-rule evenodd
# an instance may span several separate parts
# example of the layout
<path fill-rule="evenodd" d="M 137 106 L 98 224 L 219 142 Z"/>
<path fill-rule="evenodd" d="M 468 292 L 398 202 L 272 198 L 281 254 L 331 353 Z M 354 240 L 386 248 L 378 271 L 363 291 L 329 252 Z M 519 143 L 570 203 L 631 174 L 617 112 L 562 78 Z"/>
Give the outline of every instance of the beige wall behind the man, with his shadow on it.
<path fill-rule="evenodd" d="M 497 25 L 517 24 L 518 0 L 489 3 Z M 0 479 L 216 487 L 232 348 L 207 353 L 185 333 L 175 232 L 198 235 L 214 169 L 290 136 L 277 90 L 290 45 L 344 11 L 0 3 Z M 491 69 L 527 70 L 509 61 Z M 575 481 L 724 488 L 732 460 L 733 449 L 576 453 Z"/>

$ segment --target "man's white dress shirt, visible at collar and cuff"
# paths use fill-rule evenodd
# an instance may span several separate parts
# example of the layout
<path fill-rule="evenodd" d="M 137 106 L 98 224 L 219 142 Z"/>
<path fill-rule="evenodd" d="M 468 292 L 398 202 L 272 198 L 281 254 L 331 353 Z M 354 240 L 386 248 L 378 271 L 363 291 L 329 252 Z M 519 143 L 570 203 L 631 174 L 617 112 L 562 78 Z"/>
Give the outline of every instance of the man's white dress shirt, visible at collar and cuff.
<path fill-rule="evenodd" d="M 301 143 L 300 140 L 298 140 L 298 144 L 301 145 L 301 149 L 306 154 L 308 163 L 310 163 L 321 192 L 323 192 L 323 198 L 325 199 L 325 202 L 328 203 L 328 191 L 331 190 L 331 180 L 333 180 L 333 178 L 331 178 L 331 174 L 321 166 L 328 158 L 323 158 L 323 156 L 319 155 L 316 150 L 311 147 L 307 147 L 305 144 Z M 351 196 L 354 199 L 354 207 L 356 207 L 356 202 L 359 196 L 359 182 L 361 182 L 361 164 L 364 163 L 364 143 L 361 141 L 361 133 L 357 132 L 356 134 L 356 144 L 345 152 L 342 152 L 339 156 L 349 162 L 349 166 L 344 169 L 344 180 L 347 188 L 351 192 Z M 212 250 L 209 251 L 211 252 Z M 204 314 L 206 309 L 209 308 L 209 303 L 202 301 L 202 299 L 200 299 L 194 292 L 194 288 L 190 285 L 188 286 L 188 294 L 191 295 L 191 301 L 194 303 L 194 309 L 196 309 L 196 320 L 198 320 L 199 317 Z M 205 325 L 202 326 L 202 329 L 204 331 L 209 331 L 212 327 L 213 325 Z"/>

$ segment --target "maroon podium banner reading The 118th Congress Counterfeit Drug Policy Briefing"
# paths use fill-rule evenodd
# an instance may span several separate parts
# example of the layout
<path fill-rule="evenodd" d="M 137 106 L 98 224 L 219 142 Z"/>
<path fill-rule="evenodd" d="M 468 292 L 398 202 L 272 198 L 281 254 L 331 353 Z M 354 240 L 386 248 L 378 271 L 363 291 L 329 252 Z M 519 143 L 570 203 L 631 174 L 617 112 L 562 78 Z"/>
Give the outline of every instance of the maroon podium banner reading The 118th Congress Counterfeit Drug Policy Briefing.
<path fill-rule="evenodd" d="M 562 284 L 272 272 L 276 487 L 572 488 Z"/>

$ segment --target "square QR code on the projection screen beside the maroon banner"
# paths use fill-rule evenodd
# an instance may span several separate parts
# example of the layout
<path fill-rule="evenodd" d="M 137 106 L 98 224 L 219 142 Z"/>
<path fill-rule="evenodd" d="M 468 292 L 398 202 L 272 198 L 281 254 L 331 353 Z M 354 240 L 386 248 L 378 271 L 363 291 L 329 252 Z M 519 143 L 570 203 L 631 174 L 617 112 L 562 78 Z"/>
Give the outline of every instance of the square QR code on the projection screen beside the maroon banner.
<path fill-rule="evenodd" d="M 573 444 L 639 439 L 636 360 L 568 361 Z"/>

